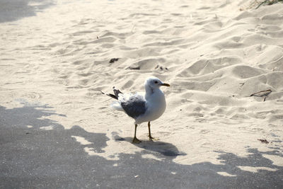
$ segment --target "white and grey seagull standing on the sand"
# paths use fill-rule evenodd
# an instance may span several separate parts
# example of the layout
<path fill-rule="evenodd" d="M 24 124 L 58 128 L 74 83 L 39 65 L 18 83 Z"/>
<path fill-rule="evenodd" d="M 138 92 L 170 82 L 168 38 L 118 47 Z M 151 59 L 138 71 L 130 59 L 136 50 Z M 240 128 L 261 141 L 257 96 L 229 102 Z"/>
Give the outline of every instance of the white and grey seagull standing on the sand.
<path fill-rule="evenodd" d="M 146 79 L 144 83 L 146 91 L 144 94 L 122 93 L 115 87 L 113 87 L 114 94 L 106 94 L 117 100 L 112 103 L 112 108 L 122 110 L 129 115 L 129 117 L 134 118 L 134 139 L 132 140 L 134 144 L 141 142 L 136 137 L 137 125 L 141 124 L 141 122 L 148 122 L 149 139 L 154 139 L 154 137 L 151 136 L 150 122 L 158 119 L 166 109 L 166 100 L 164 93 L 160 89 L 161 86 L 170 85 L 163 83 L 155 76 L 151 76 Z"/>

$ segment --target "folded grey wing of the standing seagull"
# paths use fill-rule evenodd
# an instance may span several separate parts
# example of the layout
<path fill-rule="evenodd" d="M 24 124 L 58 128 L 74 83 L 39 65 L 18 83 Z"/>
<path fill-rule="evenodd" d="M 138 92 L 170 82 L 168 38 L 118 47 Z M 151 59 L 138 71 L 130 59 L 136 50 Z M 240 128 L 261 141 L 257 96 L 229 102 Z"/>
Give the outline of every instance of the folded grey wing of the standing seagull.
<path fill-rule="evenodd" d="M 146 112 L 146 101 L 144 100 L 144 96 L 141 95 L 135 94 L 127 100 L 122 99 L 120 104 L 127 115 L 134 119 Z"/>

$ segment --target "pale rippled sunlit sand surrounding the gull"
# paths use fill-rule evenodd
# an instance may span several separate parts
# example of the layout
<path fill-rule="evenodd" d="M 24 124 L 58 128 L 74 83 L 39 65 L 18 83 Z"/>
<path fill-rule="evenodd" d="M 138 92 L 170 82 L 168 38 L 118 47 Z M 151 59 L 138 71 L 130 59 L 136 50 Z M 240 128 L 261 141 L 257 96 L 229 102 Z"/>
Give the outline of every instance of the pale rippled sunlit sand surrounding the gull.
<path fill-rule="evenodd" d="M 223 153 L 245 158 L 256 149 L 277 168 L 238 168 L 282 168 L 283 4 L 255 10 L 247 1 L 25 3 L 27 12 L 6 12 L 0 23 L 2 115 L 24 106 L 54 112 L 38 118 L 53 125 L 23 127 L 103 133 L 103 151 L 84 151 L 119 160 L 145 149 L 131 143 L 134 120 L 110 108 L 112 99 L 100 91 L 143 91 L 144 80 L 157 76 L 171 87 L 163 88 L 166 112 L 151 122 L 151 133 L 178 149 L 175 164 L 223 164 Z M 250 96 L 265 90 L 272 92 Z M 148 141 L 146 123 L 137 137 L 158 148 Z M 76 133 L 72 138 L 91 144 Z"/>

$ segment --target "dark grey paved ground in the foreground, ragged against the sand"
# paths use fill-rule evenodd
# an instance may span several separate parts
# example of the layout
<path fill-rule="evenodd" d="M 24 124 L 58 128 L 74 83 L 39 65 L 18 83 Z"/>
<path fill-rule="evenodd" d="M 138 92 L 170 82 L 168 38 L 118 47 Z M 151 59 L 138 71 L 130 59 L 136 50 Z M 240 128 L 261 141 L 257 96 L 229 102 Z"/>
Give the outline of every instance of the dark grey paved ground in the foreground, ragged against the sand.
<path fill-rule="evenodd" d="M 239 157 L 219 151 L 223 164 L 176 164 L 182 155 L 173 144 L 144 142 L 135 154 L 119 154 L 112 161 L 89 156 L 91 147 L 103 153 L 109 140 L 104 133 L 86 132 L 79 126 L 65 130 L 50 115 L 47 105 L 7 109 L 0 106 L 0 188 L 282 188 L 283 168 L 275 166 L 258 149 Z M 32 126 L 32 127 L 31 127 Z M 50 128 L 46 130 L 46 128 Z M 80 144 L 73 136 L 91 144 Z M 126 138 L 130 141 L 130 138 Z M 279 151 L 266 152 L 282 156 Z M 152 154 L 161 160 L 144 159 Z M 200 156 L 200 159 L 202 157 Z M 252 173 L 238 166 L 268 167 Z M 221 176 L 226 172 L 232 176 Z"/>

